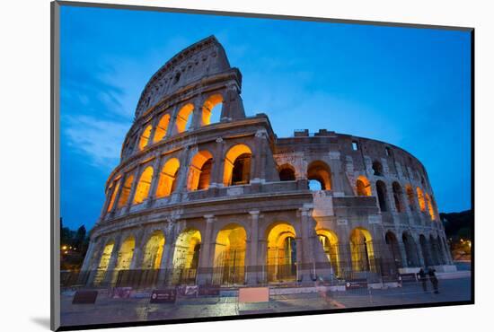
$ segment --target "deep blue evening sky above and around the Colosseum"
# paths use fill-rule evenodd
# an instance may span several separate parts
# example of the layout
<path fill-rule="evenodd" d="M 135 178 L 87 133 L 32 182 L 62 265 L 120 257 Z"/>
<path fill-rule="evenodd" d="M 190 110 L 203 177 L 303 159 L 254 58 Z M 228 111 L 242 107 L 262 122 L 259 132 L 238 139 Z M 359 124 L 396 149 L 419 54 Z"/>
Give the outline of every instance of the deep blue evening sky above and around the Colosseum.
<path fill-rule="evenodd" d="M 424 163 L 440 212 L 469 209 L 470 34 L 116 9 L 61 9 L 61 215 L 93 227 L 147 80 L 215 35 L 248 116 L 278 136 L 327 128 Z"/>

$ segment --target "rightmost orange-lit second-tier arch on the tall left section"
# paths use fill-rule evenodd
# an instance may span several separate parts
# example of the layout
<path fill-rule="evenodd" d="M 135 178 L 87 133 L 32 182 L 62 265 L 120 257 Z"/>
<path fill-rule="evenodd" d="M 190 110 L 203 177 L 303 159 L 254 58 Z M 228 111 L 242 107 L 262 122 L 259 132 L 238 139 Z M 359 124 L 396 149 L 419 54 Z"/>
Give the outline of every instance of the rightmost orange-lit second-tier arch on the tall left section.
<path fill-rule="evenodd" d="M 225 155 L 223 184 L 237 186 L 248 184 L 251 180 L 251 149 L 245 144 L 236 144 Z"/>

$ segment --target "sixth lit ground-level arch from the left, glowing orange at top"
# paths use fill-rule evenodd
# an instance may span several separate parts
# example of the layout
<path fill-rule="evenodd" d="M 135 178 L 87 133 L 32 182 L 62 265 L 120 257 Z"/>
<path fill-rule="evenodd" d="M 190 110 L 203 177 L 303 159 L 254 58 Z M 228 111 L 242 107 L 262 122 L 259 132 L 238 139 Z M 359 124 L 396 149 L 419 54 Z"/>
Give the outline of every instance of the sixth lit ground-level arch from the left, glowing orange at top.
<path fill-rule="evenodd" d="M 296 280 L 296 232 L 289 223 L 276 223 L 267 232 L 268 282 Z"/>

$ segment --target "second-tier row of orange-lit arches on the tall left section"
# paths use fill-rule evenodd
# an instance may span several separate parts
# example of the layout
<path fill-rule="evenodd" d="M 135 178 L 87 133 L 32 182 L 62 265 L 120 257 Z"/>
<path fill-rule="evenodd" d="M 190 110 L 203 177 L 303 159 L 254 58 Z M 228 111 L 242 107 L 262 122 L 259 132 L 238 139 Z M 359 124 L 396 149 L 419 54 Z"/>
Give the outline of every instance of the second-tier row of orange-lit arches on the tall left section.
<path fill-rule="evenodd" d="M 236 144 L 225 153 L 225 166 L 223 185 L 236 186 L 248 184 L 251 179 L 251 148 L 246 144 Z M 110 212 L 115 204 L 117 208 L 128 205 L 132 187 L 136 186 L 132 204 L 141 204 L 151 194 L 153 181 L 157 181 L 156 198 L 168 197 L 177 188 L 178 175 L 181 170 L 181 162 L 172 157 L 164 162 L 163 167 L 155 174 L 153 166 L 147 166 L 134 184 L 134 174 L 128 174 L 125 179 L 116 179 L 110 188 L 110 199 L 107 212 Z M 188 191 L 203 190 L 209 188 L 213 170 L 213 155 L 207 150 L 198 151 L 190 159 L 187 173 L 186 187 Z M 120 182 L 123 185 L 120 188 Z M 119 197 L 117 199 L 117 197 Z M 115 202 L 117 200 L 117 202 Z"/>

